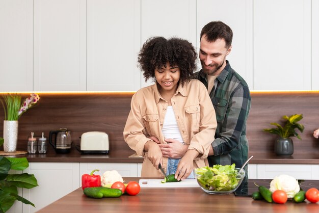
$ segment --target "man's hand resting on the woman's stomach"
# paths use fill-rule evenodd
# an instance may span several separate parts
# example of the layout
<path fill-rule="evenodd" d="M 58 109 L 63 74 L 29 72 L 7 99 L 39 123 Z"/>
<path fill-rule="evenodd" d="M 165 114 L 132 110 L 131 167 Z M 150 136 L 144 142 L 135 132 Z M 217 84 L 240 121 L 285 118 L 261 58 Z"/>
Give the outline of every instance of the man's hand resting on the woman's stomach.
<path fill-rule="evenodd" d="M 164 157 L 179 159 L 187 152 L 188 145 L 184 145 L 174 139 L 165 139 L 167 144 L 159 144 Z"/>

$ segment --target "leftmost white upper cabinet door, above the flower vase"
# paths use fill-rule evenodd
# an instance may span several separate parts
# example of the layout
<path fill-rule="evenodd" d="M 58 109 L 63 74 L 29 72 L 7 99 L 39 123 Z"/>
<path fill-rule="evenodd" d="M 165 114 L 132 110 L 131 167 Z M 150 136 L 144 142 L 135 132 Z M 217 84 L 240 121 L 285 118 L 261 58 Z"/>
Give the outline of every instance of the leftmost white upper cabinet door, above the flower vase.
<path fill-rule="evenodd" d="M 33 90 L 33 1 L 0 1 L 0 91 Z"/>

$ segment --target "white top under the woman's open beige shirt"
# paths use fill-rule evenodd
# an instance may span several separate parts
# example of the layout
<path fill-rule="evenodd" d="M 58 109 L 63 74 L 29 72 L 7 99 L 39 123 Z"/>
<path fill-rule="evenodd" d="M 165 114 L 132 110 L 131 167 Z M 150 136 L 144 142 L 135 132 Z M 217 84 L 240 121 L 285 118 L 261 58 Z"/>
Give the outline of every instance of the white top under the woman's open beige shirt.
<path fill-rule="evenodd" d="M 167 106 L 162 133 L 165 139 L 175 139 L 181 143 L 184 143 L 177 125 L 175 113 L 172 106 Z"/>

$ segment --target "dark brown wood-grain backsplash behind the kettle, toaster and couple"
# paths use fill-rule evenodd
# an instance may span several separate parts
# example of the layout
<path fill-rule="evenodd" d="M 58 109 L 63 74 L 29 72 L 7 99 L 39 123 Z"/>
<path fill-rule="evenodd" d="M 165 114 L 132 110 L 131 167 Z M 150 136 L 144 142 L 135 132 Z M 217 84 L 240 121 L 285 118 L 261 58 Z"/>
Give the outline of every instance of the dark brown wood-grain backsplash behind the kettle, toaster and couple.
<path fill-rule="evenodd" d="M 71 131 L 71 140 L 79 145 L 86 131 L 105 131 L 112 150 L 130 150 L 123 140 L 123 128 L 134 93 L 40 93 L 40 101 L 19 119 L 18 150 L 26 150 L 31 132 L 48 137 L 50 130 L 61 127 Z M 22 94 L 24 95 L 24 94 Z M 25 94 L 27 96 L 29 94 Z M 294 141 L 294 153 L 319 152 L 319 140 L 312 137 L 319 127 L 318 92 L 252 92 L 252 105 L 247 121 L 249 153 L 274 150 L 275 135 L 263 132 L 271 122 L 281 123 L 283 115 L 303 114 L 305 125 L 302 141 Z M 3 136 L 4 112 L 0 104 L 0 137 Z M 3 150 L 3 147 L 0 148 Z M 48 151 L 52 149 L 48 145 Z M 74 149 L 74 146 L 72 146 Z"/>

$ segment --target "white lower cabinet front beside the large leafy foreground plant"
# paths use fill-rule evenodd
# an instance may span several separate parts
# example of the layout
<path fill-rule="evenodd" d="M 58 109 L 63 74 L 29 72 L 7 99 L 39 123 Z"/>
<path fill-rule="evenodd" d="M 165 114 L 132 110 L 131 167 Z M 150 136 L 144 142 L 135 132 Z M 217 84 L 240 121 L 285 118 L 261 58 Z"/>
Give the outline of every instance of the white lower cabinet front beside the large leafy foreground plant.
<path fill-rule="evenodd" d="M 79 187 L 79 163 L 30 163 L 23 172 L 34 174 L 38 187 L 23 189 L 22 197 L 35 204 L 23 204 L 23 213 L 35 212 Z"/>

